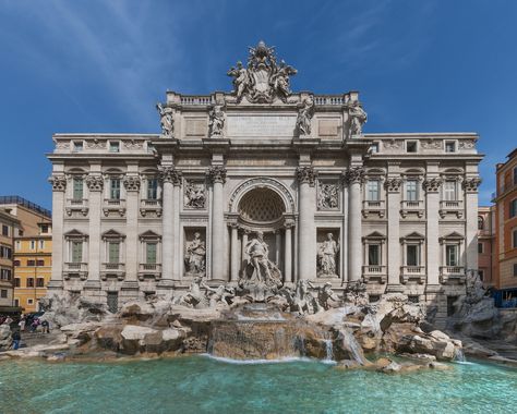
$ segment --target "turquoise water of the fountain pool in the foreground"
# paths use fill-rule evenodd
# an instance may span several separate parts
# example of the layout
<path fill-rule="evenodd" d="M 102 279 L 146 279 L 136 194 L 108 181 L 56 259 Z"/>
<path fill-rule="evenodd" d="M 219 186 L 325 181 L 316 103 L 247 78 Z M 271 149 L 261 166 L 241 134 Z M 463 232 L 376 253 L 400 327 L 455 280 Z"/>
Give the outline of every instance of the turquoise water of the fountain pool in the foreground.
<path fill-rule="evenodd" d="M 0 363 L 1 413 L 506 413 L 517 369 L 385 375 L 318 362 L 206 356 L 125 363 Z"/>

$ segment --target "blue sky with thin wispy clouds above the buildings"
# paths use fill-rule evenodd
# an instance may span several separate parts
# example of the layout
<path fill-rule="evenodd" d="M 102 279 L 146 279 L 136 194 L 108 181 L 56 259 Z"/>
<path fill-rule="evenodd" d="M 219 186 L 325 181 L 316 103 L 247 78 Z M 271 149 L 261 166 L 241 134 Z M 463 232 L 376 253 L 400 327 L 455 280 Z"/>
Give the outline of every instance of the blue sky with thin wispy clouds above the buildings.
<path fill-rule="evenodd" d="M 165 90 L 229 90 L 260 39 L 294 90 L 360 90 L 365 132 L 480 134 L 488 204 L 517 146 L 517 1 L 0 0 L 0 194 L 51 207 L 57 132 L 157 133 Z"/>

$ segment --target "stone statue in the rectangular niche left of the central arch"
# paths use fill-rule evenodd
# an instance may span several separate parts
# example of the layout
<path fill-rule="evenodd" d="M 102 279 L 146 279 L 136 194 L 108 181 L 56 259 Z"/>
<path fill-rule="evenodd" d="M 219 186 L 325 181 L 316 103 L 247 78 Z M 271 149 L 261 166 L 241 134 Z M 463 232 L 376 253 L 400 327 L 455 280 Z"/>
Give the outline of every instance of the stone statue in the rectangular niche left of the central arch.
<path fill-rule="evenodd" d="M 206 229 L 184 228 L 184 276 L 206 275 Z"/>

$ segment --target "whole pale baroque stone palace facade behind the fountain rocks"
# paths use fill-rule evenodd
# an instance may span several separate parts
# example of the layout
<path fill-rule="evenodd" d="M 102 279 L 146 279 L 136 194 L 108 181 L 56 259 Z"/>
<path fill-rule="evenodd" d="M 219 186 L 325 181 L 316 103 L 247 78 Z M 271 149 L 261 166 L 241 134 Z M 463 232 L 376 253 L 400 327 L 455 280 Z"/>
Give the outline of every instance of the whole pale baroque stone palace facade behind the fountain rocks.
<path fill-rule="evenodd" d="M 365 134 L 357 92 L 292 93 L 273 48 L 249 53 L 231 93 L 168 92 L 160 134 L 53 136 L 51 288 L 116 308 L 273 273 L 444 315 L 478 266 L 478 136 Z"/>

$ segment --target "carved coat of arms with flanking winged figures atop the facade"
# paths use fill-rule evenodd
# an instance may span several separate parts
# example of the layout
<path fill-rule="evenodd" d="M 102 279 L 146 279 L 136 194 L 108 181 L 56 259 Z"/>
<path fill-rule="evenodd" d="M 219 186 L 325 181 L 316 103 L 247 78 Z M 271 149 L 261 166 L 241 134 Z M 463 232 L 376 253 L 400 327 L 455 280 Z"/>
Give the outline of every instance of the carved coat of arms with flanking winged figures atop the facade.
<path fill-rule="evenodd" d="M 289 76 L 296 75 L 297 70 L 284 60 L 277 63 L 275 47 L 262 40 L 249 50 L 248 68 L 239 61 L 227 73 L 233 77 L 232 94 L 237 101 L 245 97 L 253 104 L 270 104 L 278 97 L 286 102 L 291 94 Z"/>

